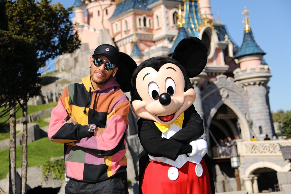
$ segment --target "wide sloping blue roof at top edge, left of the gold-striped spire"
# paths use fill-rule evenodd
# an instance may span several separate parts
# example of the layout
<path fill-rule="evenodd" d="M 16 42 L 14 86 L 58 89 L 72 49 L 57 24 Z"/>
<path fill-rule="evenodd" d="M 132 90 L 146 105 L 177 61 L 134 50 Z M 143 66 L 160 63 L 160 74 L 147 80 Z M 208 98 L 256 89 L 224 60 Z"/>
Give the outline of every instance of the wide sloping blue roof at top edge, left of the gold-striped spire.
<path fill-rule="evenodd" d="M 152 10 L 147 7 L 146 0 L 120 0 L 116 3 L 115 11 L 111 18 L 114 18 L 130 9 Z M 110 19 L 111 19 L 110 18 Z"/>

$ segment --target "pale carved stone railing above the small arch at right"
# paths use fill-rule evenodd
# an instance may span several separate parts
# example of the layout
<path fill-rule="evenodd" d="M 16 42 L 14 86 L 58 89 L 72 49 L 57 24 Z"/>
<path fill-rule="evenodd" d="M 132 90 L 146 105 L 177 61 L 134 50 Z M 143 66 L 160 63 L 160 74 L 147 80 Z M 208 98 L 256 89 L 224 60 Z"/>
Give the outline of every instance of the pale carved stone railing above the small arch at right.
<path fill-rule="evenodd" d="M 280 146 L 291 146 L 291 140 L 237 141 L 240 156 L 282 156 Z"/>

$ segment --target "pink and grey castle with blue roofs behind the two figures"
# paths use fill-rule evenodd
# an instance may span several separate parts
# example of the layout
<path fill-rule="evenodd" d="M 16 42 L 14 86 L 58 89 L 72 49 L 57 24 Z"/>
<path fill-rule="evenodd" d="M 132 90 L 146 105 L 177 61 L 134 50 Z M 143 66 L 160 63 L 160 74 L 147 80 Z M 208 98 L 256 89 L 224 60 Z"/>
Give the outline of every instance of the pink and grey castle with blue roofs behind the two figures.
<path fill-rule="evenodd" d="M 236 45 L 226 26 L 214 20 L 210 0 L 75 0 L 73 6 L 72 20 L 82 45 L 56 60 L 57 77 L 71 83 L 87 76 L 89 58 L 100 44 L 115 45 L 139 65 L 151 57 L 171 56 L 180 40 L 198 37 L 207 47 L 208 61 L 191 82 L 197 94 L 194 105 L 204 120 L 216 192 L 245 189 L 256 193 L 269 188 L 284 190 L 291 184 L 290 179 L 282 178 L 291 175 L 291 166 L 280 151 L 291 141 L 260 141 L 266 134 L 275 134 L 267 85 L 272 75 L 246 9 L 243 43 Z M 48 93 L 43 90 L 46 101 L 57 101 L 63 84 L 48 86 Z M 128 171 L 129 179 L 136 183 L 142 147 L 132 112 L 129 119 L 127 143 L 132 157 L 129 166 L 133 167 Z M 250 142 L 252 136 L 259 141 Z M 229 153 L 220 144 L 227 137 L 236 139 Z"/>

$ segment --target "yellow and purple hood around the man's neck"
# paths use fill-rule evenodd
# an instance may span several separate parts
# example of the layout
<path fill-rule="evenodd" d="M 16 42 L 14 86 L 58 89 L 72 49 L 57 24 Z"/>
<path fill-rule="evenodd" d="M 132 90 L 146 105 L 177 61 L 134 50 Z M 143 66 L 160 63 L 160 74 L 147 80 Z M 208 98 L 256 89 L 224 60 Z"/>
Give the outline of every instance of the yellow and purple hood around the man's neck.
<path fill-rule="evenodd" d="M 91 75 L 88 75 L 87 77 L 83 77 L 82 82 L 83 82 L 87 92 L 90 91 L 90 87 L 91 87 L 91 91 L 92 91 L 93 86 L 91 84 Z M 111 89 L 113 87 L 117 87 L 118 89 L 120 89 L 120 85 L 116 81 L 115 77 L 111 77 L 101 88 L 95 89 L 92 92 L 96 92 L 97 90 L 99 91 L 99 93 L 105 92 L 105 91 L 107 91 L 107 89 Z"/>

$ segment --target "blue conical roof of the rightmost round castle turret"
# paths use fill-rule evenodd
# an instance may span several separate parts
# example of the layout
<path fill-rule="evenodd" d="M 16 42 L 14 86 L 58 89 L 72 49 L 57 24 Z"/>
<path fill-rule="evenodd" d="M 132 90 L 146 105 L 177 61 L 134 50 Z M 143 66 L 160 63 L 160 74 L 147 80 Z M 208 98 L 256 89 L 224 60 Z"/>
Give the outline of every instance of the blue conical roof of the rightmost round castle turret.
<path fill-rule="evenodd" d="M 253 32 L 250 29 L 249 32 L 244 32 L 243 44 L 240 47 L 239 52 L 236 54 L 235 58 L 253 54 L 265 55 L 266 53 L 263 51 L 263 49 L 259 47 L 259 45 L 257 45 L 253 36 Z"/>

